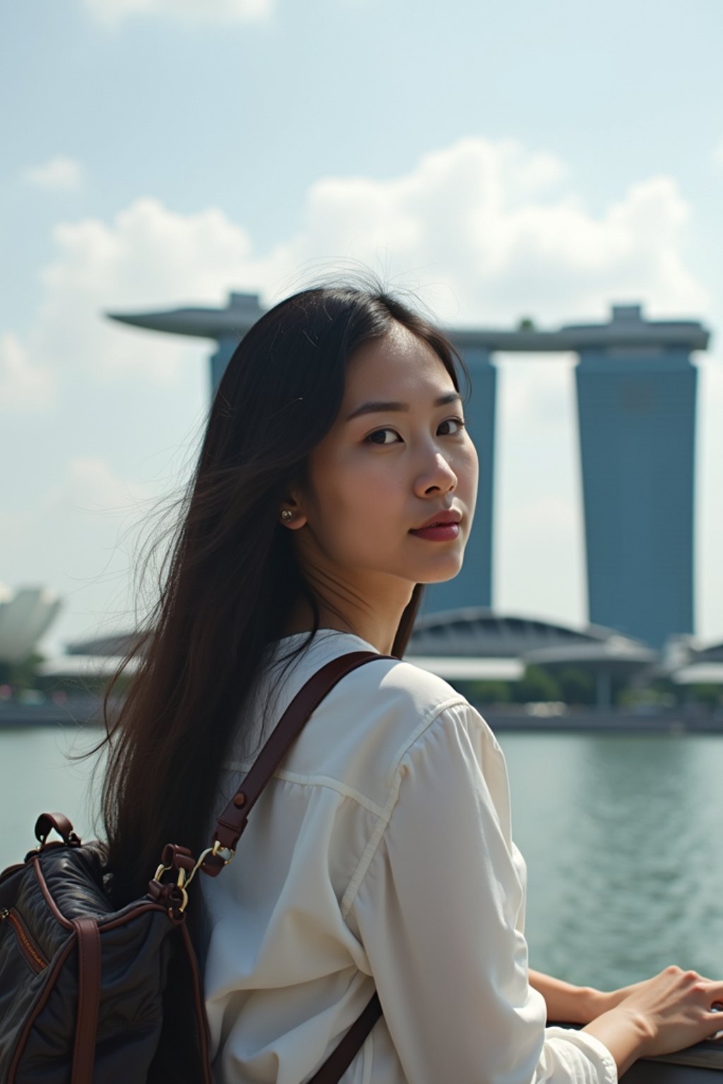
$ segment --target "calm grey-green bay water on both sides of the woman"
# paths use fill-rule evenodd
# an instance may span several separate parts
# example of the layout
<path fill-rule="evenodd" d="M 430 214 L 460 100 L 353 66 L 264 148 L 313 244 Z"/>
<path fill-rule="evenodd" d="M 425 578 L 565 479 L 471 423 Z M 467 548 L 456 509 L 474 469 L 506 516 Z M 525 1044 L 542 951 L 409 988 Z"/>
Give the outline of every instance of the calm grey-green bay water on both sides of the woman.
<path fill-rule="evenodd" d="M 43 810 L 93 824 L 100 731 L 0 732 L 0 868 Z M 502 734 L 529 872 L 530 964 L 610 989 L 670 963 L 723 976 L 723 736 Z"/>

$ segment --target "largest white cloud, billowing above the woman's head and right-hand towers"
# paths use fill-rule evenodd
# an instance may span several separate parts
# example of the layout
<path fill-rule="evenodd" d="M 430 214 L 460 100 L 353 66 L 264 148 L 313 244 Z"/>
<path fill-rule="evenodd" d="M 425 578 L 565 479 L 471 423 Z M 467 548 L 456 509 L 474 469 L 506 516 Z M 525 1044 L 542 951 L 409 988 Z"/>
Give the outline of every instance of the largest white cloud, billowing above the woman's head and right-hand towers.
<path fill-rule="evenodd" d="M 594 215 L 552 155 L 467 139 L 393 180 L 319 181 L 301 231 L 260 270 L 320 256 L 391 262 L 444 283 L 430 293 L 451 321 L 596 319 L 617 298 L 680 312 L 708 300 L 683 257 L 687 214 L 675 182 L 658 177 Z"/>

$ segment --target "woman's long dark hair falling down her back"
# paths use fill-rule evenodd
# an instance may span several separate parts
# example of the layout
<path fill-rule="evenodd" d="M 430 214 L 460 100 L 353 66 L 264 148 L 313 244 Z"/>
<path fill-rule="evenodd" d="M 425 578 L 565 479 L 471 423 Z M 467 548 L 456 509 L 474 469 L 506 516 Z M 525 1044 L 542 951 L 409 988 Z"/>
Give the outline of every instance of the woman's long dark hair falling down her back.
<path fill-rule="evenodd" d="M 207 846 L 227 746 L 300 596 L 318 628 L 279 509 L 336 418 L 348 358 L 395 321 L 436 351 L 459 389 L 459 358 L 444 335 L 380 289 L 296 294 L 250 328 L 229 362 L 165 583 L 131 653 L 138 671 L 115 713 L 106 698 L 103 816 L 118 903 L 143 893 L 165 843 L 194 853 Z M 421 590 L 397 631 L 399 657 Z"/>

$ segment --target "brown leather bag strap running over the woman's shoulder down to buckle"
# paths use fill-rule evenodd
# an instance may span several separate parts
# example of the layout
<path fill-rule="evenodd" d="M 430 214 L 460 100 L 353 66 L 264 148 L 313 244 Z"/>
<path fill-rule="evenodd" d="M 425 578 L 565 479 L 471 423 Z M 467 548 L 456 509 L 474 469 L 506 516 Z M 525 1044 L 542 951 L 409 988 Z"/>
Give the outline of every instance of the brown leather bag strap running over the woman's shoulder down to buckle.
<path fill-rule="evenodd" d="M 304 728 L 309 715 L 319 707 L 326 694 L 357 667 L 372 662 L 374 659 L 388 658 L 391 656 L 377 655 L 376 651 L 351 651 L 349 655 L 332 659 L 309 679 L 279 720 L 248 775 L 218 818 L 216 839 L 222 847 L 227 847 L 231 851 L 236 849 L 238 838 L 246 827 L 248 814 L 256 804 L 259 795 L 275 772 L 280 761 L 288 752 L 294 739 Z M 212 877 L 219 872 L 219 864 L 206 862 L 202 868 Z"/>

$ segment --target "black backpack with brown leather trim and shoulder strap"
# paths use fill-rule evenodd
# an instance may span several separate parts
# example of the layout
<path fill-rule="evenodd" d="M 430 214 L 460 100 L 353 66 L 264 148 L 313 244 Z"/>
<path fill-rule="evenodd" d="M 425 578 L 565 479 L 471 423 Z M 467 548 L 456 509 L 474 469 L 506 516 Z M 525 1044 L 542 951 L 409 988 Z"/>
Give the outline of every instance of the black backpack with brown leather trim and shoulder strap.
<path fill-rule="evenodd" d="M 147 894 L 119 911 L 105 846 L 82 843 L 62 814 L 38 818 L 39 846 L 0 874 L 0 1084 L 211 1084 L 188 888 L 233 859 L 261 790 L 326 694 L 380 657 L 354 651 L 313 674 L 218 818 L 211 847 L 195 859 L 167 844 Z M 336 1084 L 380 1015 L 374 994 L 310 1084 Z"/>

